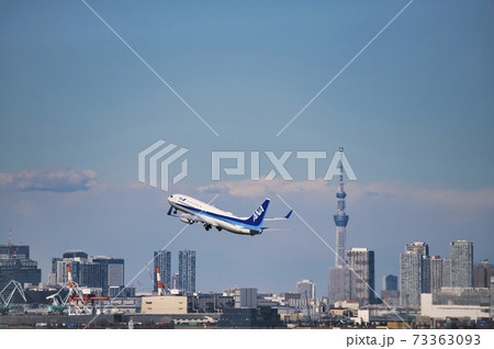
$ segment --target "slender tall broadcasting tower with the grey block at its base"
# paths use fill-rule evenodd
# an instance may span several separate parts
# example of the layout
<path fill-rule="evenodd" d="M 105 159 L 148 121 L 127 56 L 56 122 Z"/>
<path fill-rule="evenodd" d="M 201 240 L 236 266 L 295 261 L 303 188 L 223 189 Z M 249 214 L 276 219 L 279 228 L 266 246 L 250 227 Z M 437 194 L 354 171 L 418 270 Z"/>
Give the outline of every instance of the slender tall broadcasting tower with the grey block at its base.
<path fill-rule="evenodd" d="M 337 301 L 348 300 L 349 297 L 349 282 L 351 271 L 345 266 L 345 250 L 346 250 L 346 229 L 349 216 L 346 214 L 345 192 L 344 184 L 344 168 L 343 156 L 344 148 L 339 148 L 340 159 L 338 161 L 339 170 L 339 183 L 336 191 L 336 214 L 334 215 L 336 225 L 336 254 L 335 254 L 335 268 L 329 269 L 329 302 L 335 303 Z"/>

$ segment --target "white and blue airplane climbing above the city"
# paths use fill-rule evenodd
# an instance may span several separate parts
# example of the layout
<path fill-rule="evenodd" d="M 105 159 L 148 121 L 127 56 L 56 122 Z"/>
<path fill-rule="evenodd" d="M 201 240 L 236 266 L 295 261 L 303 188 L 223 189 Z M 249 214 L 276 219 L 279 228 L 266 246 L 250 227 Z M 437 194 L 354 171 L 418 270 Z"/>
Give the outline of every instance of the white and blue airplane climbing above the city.
<path fill-rule="evenodd" d="M 170 203 L 168 215 L 179 217 L 183 223 L 200 223 L 204 225 L 206 230 L 214 226 L 218 232 L 225 229 L 234 234 L 250 236 L 262 234 L 262 232 L 268 229 L 274 230 L 273 228 L 263 227 L 262 222 L 288 219 L 293 211 L 290 211 L 284 217 L 265 217 L 270 202 L 269 199 L 266 199 L 249 217 L 237 217 L 232 212 L 222 211 L 183 194 L 172 194 L 168 196 L 168 202 Z M 178 215 L 177 211 L 183 213 Z"/>

